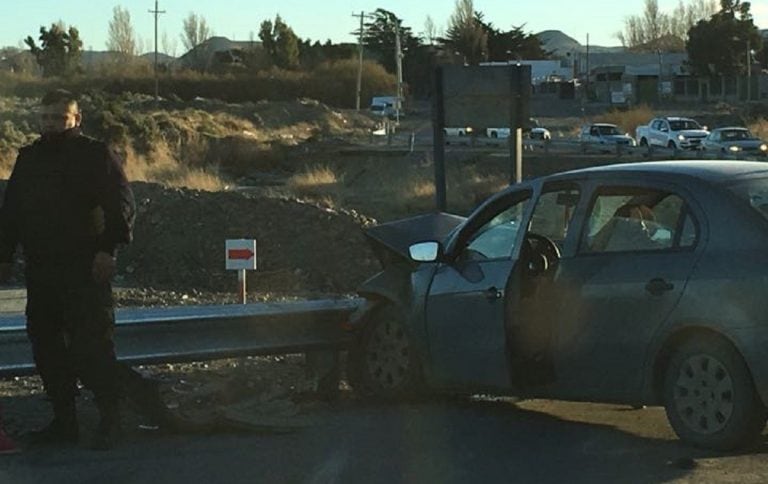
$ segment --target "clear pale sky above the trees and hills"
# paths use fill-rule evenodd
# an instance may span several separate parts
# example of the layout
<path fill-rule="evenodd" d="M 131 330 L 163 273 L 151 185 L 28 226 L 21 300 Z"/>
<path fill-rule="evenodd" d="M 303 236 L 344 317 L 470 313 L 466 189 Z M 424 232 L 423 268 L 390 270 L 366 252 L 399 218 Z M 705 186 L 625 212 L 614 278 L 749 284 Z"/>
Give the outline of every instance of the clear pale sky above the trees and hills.
<path fill-rule="evenodd" d="M 84 47 L 105 50 L 112 9 L 120 5 L 131 20 L 144 51 L 154 50 L 154 20 L 149 10 L 154 0 L 0 0 L 5 5 L 0 15 L 0 45 L 21 46 L 40 26 L 58 20 L 80 30 Z M 662 11 L 671 12 L 679 0 L 659 0 Z M 687 3 L 687 1 L 685 2 Z M 616 32 L 630 15 L 642 13 L 643 0 L 474 0 L 475 10 L 500 29 L 523 25 L 526 32 L 561 30 L 582 44 L 587 34 L 592 45 L 620 45 Z M 259 24 L 276 14 L 302 39 L 334 43 L 354 42 L 352 32 L 358 26 L 353 13 L 384 8 L 403 19 L 405 26 L 422 33 L 427 16 L 439 30 L 444 30 L 455 7 L 455 0 L 159 0 L 159 50 L 163 45 L 171 55 L 184 51 L 180 40 L 182 21 L 194 12 L 203 16 L 215 35 L 232 40 L 258 39 Z M 768 29 L 768 0 L 754 0 L 755 24 Z M 174 52 L 175 51 L 175 52 Z"/>

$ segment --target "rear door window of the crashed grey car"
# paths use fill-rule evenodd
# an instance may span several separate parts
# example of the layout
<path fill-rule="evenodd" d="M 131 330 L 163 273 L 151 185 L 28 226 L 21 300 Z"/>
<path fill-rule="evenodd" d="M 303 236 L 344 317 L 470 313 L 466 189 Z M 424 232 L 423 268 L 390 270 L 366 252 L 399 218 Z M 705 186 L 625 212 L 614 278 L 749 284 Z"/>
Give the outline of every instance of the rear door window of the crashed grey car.
<path fill-rule="evenodd" d="M 610 189 L 595 198 L 580 252 L 627 252 L 691 247 L 696 224 L 676 194 L 646 189 Z"/>

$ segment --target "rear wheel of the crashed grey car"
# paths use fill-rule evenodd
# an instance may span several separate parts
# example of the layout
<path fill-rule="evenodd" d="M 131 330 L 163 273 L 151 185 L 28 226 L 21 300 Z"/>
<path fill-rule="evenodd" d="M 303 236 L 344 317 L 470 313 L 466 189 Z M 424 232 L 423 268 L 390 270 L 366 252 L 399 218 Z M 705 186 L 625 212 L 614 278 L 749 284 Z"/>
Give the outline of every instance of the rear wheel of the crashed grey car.
<path fill-rule="evenodd" d="M 732 450 L 753 443 L 766 410 L 746 363 L 728 342 L 697 336 L 670 359 L 664 378 L 667 418 L 681 440 Z"/>

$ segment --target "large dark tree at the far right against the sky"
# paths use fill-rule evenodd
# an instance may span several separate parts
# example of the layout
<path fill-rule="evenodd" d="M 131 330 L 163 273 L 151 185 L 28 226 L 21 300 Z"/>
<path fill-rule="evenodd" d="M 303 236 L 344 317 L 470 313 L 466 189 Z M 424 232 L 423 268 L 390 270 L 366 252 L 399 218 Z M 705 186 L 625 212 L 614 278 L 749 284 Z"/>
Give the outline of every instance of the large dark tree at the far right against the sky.
<path fill-rule="evenodd" d="M 695 74 L 725 75 L 747 70 L 747 46 L 762 50 L 750 3 L 720 0 L 720 11 L 688 32 L 688 64 Z"/>

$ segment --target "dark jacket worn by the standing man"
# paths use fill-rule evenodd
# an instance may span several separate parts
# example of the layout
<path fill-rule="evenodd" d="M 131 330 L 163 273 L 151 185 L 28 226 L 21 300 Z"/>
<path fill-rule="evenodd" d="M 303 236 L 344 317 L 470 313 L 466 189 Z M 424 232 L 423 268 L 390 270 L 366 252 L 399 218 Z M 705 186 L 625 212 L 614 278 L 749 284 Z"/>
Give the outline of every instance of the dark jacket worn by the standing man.
<path fill-rule="evenodd" d="M 0 262 L 20 244 L 27 263 L 114 254 L 131 240 L 135 203 L 118 157 L 78 128 L 19 150 L 0 207 Z"/>

